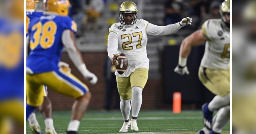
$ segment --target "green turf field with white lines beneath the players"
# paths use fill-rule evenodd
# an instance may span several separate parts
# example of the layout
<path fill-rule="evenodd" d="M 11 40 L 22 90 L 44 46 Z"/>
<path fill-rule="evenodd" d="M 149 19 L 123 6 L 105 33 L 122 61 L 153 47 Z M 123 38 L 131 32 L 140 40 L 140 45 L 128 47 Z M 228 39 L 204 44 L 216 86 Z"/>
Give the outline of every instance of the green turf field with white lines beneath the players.
<path fill-rule="evenodd" d="M 37 120 L 44 132 L 45 126 L 40 113 Z M 53 111 L 54 126 L 58 134 L 66 134 L 71 111 Z M 122 127 L 121 111 L 87 111 L 81 121 L 79 134 L 116 134 Z M 203 128 L 200 111 L 183 111 L 174 114 L 171 111 L 140 111 L 138 134 L 195 134 Z M 131 131 L 128 131 L 132 133 Z M 223 134 L 230 134 L 230 123 L 223 129 Z M 26 134 L 32 134 L 26 124 Z"/>

